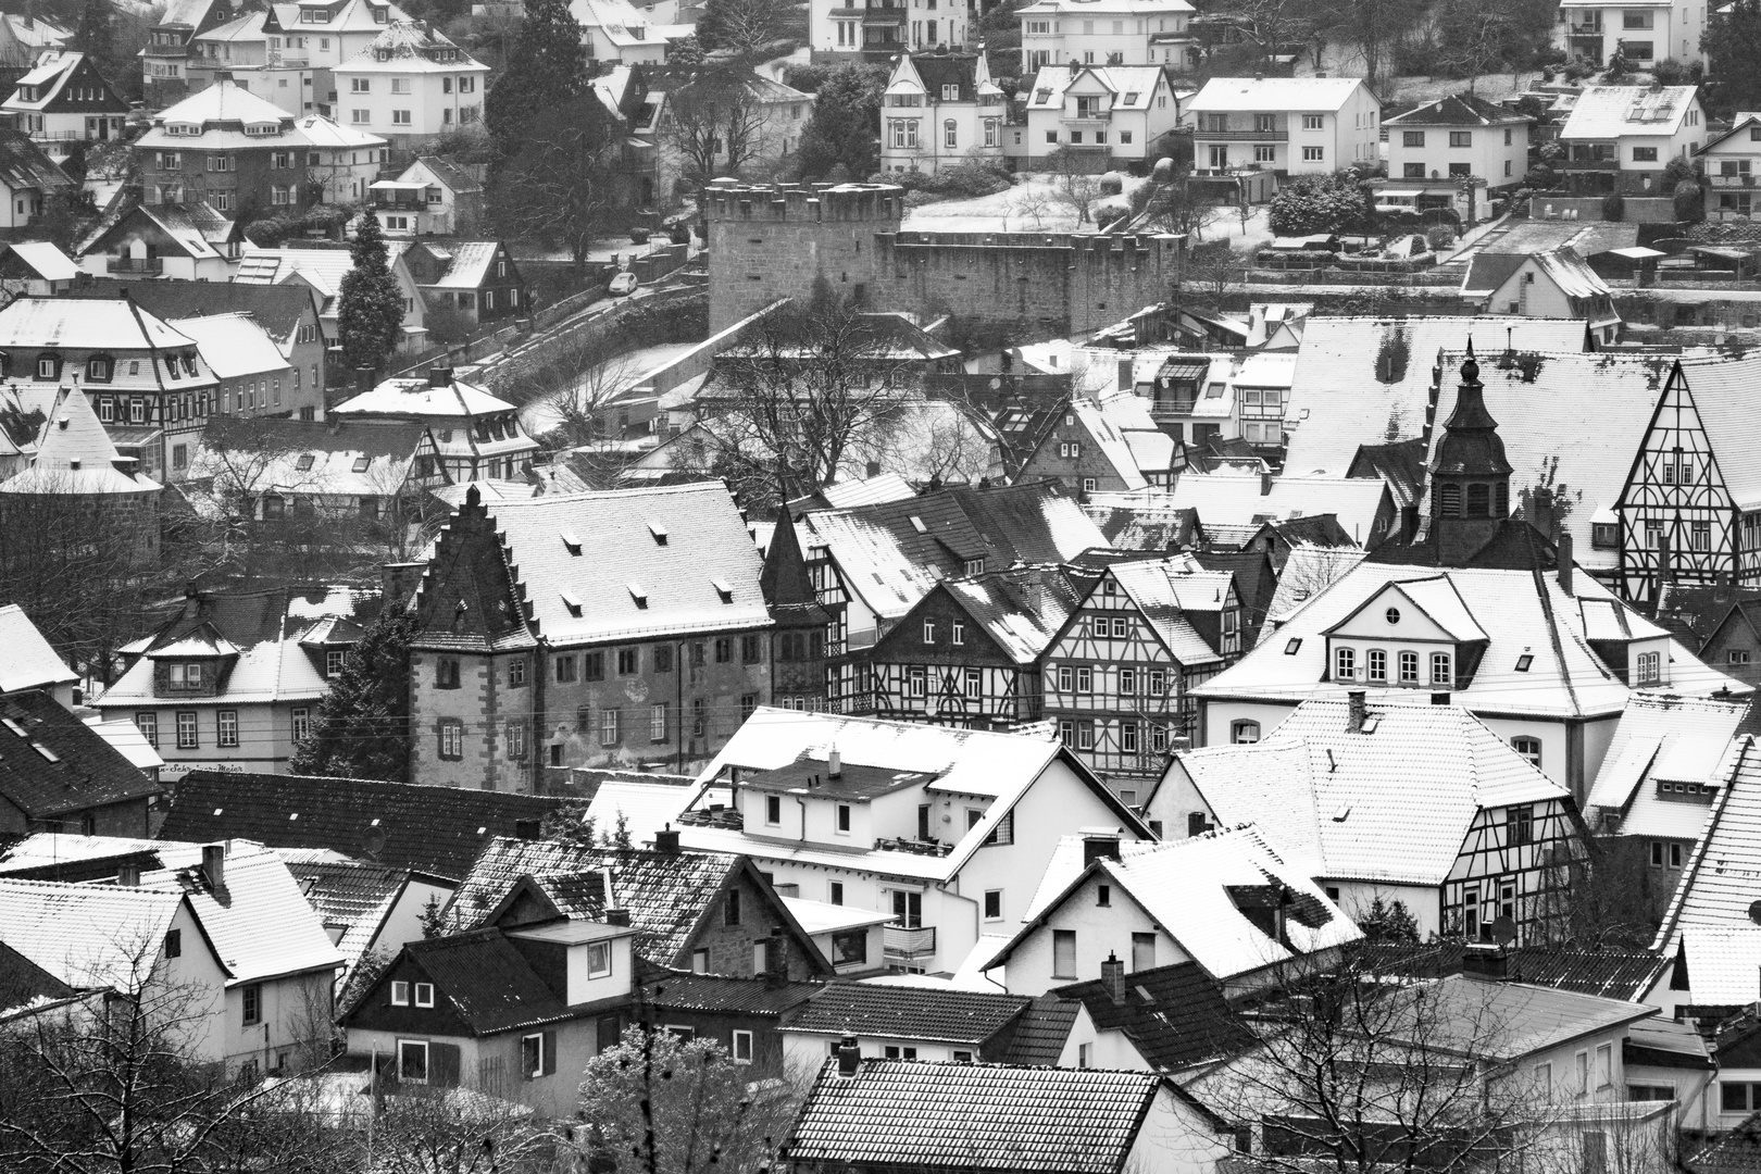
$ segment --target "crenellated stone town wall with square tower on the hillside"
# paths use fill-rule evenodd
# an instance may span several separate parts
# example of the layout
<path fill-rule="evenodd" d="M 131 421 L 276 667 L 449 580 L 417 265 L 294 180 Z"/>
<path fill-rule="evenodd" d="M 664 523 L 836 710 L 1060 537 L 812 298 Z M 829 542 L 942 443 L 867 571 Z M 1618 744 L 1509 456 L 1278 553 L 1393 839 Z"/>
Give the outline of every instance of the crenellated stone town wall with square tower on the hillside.
<path fill-rule="evenodd" d="M 1087 333 L 1168 301 L 1185 252 L 1173 234 L 907 232 L 903 209 L 884 183 L 710 188 L 710 329 L 822 278 L 872 310 Z"/>

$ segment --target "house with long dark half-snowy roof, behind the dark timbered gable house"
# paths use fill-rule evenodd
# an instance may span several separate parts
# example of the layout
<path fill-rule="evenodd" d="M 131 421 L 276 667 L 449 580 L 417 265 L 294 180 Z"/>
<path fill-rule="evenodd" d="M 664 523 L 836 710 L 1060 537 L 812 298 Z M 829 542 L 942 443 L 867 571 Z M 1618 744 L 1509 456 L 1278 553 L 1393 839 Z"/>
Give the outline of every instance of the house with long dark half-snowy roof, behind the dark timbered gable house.
<path fill-rule="evenodd" d="M 1108 542 L 1057 482 L 956 486 L 803 519 L 807 570 L 826 609 L 826 704 L 873 709 L 870 651 L 942 579 L 1046 565 Z"/>

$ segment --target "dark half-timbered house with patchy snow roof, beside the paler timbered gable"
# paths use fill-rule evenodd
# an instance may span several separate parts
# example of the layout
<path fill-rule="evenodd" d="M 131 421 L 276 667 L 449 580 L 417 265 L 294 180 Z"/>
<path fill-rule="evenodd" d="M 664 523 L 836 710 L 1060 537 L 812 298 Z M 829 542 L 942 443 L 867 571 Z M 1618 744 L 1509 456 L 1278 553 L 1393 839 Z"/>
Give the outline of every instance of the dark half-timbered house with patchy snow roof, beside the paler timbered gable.
<path fill-rule="evenodd" d="M 873 713 L 991 730 L 1037 722 L 1041 657 L 1076 605 L 1072 574 L 1018 567 L 935 584 L 870 653 Z"/>

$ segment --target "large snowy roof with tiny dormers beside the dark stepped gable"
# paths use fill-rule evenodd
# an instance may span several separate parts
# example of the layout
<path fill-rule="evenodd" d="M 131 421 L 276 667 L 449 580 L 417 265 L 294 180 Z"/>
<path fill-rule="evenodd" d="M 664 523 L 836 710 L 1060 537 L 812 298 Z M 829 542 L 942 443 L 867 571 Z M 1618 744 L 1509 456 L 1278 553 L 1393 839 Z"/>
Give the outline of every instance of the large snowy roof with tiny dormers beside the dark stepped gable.
<path fill-rule="evenodd" d="M 518 598 L 502 586 L 449 574 L 458 546 L 518 567 Z M 454 600 L 530 609 L 525 627 L 553 648 L 662 634 L 771 627 L 759 586 L 763 560 L 720 481 L 465 505 L 438 539 L 417 595 L 421 646 L 477 646 L 460 635 Z M 518 591 L 519 588 L 507 588 Z M 495 598 L 488 598 L 490 593 Z M 511 613 L 518 625 L 521 618 Z"/>

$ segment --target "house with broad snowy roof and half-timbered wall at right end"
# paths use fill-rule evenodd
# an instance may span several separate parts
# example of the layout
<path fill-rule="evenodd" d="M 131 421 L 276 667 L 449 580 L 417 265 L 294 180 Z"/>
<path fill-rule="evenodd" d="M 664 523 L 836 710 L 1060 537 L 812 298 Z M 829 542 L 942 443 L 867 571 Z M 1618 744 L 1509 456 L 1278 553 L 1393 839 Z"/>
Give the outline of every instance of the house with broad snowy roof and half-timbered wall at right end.
<path fill-rule="evenodd" d="M 1349 914 L 1400 901 L 1421 936 L 1469 942 L 1555 936 L 1583 850 L 1571 794 L 1472 713 L 1363 692 L 1305 701 L 1259 743 L 1176 753 L 1145 810 L 1168 838 L 1257 820 Z"/>

